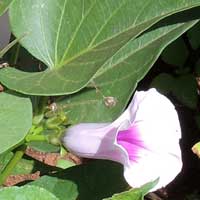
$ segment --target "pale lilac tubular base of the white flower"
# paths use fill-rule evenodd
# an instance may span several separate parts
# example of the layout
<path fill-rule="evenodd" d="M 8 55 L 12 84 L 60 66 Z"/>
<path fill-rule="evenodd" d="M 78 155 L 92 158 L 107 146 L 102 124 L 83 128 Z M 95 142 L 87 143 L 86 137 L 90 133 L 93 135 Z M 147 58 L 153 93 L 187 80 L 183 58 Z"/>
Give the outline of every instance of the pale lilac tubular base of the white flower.
<path fill-rule="evenodd" d="M 63 137 L 63 145 L 84 158 L 128 161 L 127 152 L 116 144 L 118 127 L 112 124 L 82 123 L 70 127 Z"/>

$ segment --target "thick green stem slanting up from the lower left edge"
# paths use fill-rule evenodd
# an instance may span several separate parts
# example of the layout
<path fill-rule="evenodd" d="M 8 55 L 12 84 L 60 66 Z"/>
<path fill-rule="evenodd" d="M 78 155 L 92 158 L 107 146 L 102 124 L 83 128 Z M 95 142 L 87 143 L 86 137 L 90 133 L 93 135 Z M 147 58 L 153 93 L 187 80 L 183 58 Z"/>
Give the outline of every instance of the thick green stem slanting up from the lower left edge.
<path fill-rule="evenodd" d="M 9 163 L 4 168 L 3 172 L 0 174 L 0 185 L 3 185 L 7 177 L 12 173 L 13 169 L 15 168 L 17 163 L 21 160 L 22 156 L 24 155 L 25 150 L 26 150 L 26 146 L 22 145 L 15 152 L 12 159 L 9 161 Z"/>

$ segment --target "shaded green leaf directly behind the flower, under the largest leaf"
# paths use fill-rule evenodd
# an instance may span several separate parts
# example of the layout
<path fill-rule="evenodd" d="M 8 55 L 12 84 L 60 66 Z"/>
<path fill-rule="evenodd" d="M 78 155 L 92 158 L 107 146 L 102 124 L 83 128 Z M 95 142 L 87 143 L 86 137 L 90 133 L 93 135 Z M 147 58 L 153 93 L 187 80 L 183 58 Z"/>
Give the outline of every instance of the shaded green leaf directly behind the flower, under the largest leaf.
<path fill-rule="evenodd" d="M 145 76 L 162 50 L 197 23 L 180 22 L 194 13 L 198 14 L 199 9 L 171 16 L 120 49 L 94 79 L 99 91 L 91 87 L 58 101 L 68 112 L 70 122 L 105 122 L 116 118 L 126 106 L 137 82 Z M 116 105 L 106 106 L 103 95 L 114 97 Z"/>

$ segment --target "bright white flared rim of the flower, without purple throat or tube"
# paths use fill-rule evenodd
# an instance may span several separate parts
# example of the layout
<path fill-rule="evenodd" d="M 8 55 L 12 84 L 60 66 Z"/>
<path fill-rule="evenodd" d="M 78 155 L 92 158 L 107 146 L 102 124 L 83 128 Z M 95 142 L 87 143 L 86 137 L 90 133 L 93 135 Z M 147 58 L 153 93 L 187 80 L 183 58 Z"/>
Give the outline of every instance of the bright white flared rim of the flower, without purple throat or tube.
<path fill-rule="evenodd" d="M 182 168 L 181 129 L 173 104 L 151 89 L 140 101 L 133 124 L 139 130 L 145 148 L 139 148 L 138 159 L 131 161 L 131 167 L 125 166 L 127 182 L 132 187 L 140 187 L 159 177 L 153 190 L 166 186 Z"/>

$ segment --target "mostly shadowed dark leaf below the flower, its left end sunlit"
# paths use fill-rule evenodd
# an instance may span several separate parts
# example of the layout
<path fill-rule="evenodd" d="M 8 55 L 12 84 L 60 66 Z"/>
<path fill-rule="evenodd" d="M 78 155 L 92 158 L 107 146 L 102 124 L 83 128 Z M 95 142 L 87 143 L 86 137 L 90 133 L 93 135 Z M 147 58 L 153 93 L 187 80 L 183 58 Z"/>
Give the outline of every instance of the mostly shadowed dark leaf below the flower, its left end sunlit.
<path fill-rule="evenodd" d="M 128 188 L 122 166 L 102 160 L 43 176 L 29 184 L 45 188 L 60 200 L 101 200 Z"/>

